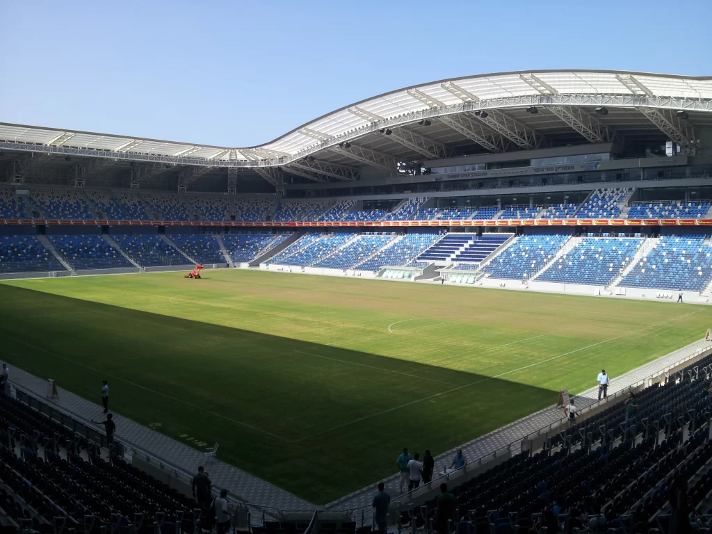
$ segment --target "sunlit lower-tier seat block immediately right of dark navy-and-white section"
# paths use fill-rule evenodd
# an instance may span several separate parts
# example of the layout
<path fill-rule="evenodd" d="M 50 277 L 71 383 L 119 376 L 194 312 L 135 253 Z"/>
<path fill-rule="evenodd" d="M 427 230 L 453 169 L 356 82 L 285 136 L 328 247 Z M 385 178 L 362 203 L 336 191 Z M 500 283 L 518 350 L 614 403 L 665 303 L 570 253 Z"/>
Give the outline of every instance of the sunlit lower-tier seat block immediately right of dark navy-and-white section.
<path fill-rule="evenodd" d="M 499 256 L 482 268 L 492 278 L 522 280 L 531 278 L 564 246 L 569 236 L 519 236 Z"/>

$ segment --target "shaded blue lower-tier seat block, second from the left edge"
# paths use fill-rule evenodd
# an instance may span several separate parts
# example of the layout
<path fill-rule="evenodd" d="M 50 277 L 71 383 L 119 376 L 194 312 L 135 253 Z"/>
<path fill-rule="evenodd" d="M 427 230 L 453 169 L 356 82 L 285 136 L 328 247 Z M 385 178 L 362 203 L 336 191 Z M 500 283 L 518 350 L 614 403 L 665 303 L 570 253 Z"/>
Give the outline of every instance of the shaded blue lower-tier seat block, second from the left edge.
<path fill-rule="evenodd" d="M 102 236 L 47 236 L 54 248 L 76 271 L 133 267 Z"/>

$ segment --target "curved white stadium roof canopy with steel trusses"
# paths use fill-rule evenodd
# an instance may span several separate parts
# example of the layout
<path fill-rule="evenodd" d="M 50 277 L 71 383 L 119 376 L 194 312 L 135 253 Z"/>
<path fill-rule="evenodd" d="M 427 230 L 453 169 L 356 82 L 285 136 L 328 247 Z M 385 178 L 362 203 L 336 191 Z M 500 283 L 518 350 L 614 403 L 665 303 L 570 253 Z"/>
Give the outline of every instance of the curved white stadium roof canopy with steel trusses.
<path fill-rule="evenodd" d="M 278 113 L 278 109 L 274 110 Z M 272 142 L 216 147 L 0 123 L 0 148 L 308 179 L 355 179 L 360 164 L 666 137 L 696 149 L 712 126 L 712 77 L 615 70 L 476 75 L 394 90 L 323 115 Z"/>

